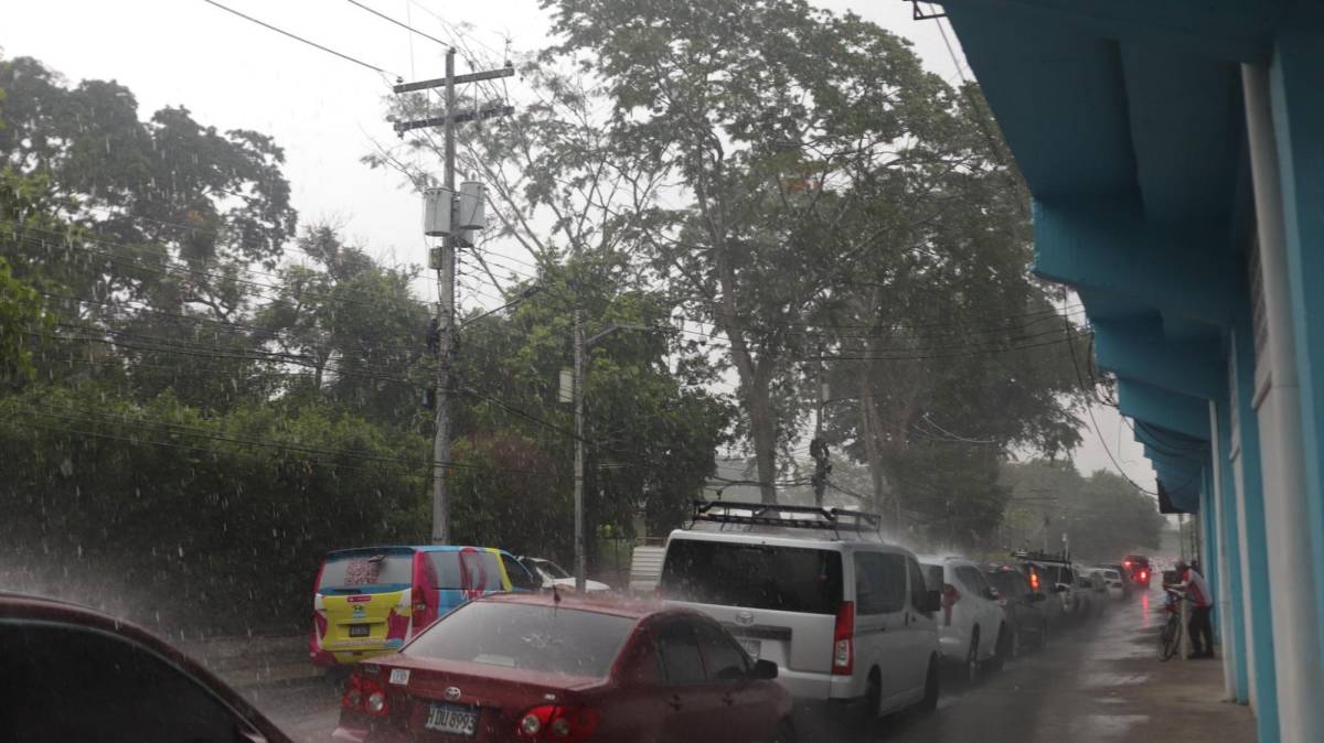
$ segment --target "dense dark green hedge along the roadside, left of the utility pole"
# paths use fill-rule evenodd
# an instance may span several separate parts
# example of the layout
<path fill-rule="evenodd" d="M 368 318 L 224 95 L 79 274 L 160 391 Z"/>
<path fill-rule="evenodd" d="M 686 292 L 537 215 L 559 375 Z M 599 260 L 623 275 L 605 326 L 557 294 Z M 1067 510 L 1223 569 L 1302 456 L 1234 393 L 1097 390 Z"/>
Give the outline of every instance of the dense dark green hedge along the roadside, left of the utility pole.
<path fill-rule="evenodd" d="M 168 393 L 32 387 L 0 420 L 11 586 L 71 571 L 71 598 L 136 594 L 154 623 L 302 623 L 322 554 L 418 531 L 422 442 L 328 405 L 207 416 Z"/>

